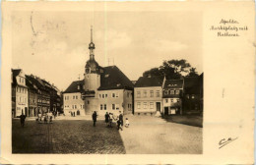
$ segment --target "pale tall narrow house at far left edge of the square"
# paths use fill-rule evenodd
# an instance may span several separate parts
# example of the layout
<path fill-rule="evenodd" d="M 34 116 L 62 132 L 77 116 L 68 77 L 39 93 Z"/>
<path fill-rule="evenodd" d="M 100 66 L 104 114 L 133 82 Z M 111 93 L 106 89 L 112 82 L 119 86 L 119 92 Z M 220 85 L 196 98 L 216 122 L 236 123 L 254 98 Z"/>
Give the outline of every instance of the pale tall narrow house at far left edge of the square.
<path fill-rule="evenodd" d="M 26 77 L 21 69 L 12 70 L 12 116 L 19 117 L 24 113 L 29 114 L 28 86 Z"/>

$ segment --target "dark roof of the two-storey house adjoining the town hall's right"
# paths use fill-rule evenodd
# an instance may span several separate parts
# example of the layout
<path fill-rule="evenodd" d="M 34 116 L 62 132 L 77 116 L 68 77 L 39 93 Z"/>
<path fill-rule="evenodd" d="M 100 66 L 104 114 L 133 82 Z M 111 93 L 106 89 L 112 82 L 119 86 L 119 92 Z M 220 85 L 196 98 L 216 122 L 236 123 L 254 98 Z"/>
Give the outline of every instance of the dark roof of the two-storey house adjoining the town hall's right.
<path fill-rule="evenodd" d="M 135 84 L 135 87 L 147 87 L 147 86 L 161 86 L 163 82 L 162 76 L 160 77 L 141 77 Z"/>

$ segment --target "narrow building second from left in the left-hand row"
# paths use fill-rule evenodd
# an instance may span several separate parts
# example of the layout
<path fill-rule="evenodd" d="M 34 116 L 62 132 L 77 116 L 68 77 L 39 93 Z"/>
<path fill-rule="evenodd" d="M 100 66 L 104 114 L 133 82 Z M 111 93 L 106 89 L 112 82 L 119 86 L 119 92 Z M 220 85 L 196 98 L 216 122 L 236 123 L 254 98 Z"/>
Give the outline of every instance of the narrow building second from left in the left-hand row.
<path fill-rule="evenodd" d="M 37 86 L 30 81 L 26 75 L 26 84 L 29 87 L 29 113 L 28 116 L 37 116 Z"/>

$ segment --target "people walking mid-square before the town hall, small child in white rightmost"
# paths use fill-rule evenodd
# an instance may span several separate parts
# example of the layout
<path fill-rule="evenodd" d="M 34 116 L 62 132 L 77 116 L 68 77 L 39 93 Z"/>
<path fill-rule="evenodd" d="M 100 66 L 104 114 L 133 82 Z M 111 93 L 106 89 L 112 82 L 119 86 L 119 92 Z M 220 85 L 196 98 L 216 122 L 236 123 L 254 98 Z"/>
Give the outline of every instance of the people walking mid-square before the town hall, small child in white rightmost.
<path fill-rule="evenodd" d="M 96 114 L 96 111 L 93 113 L 93 121 L 94 121 L 94 127 L 96 127 L 96 117 L 97 117 L 97 114 Z M 112 124 L 116 122 L 116 125 L 117 125 L 117 130 L 123 130 L 123 114 L 121 113 L 121 111 L 119 111 L 119 115 L 118 116 L 114 116 L 113 113 L 105 113 L 104 115 L 105 117 L 105 125 L 106 127 L 108 128 L 112 128 Z M 129 121 L 128 121 L 128 118 L 126 118 L 125 120 L 125 127 L 128 128 L 130 125 Z"/>

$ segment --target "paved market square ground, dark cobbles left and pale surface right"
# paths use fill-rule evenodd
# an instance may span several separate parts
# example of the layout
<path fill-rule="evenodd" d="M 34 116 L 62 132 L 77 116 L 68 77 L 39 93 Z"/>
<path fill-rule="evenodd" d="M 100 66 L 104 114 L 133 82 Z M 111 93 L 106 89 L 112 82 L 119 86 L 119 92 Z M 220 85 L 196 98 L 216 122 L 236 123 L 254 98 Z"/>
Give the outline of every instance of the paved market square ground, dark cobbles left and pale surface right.
<path fill-rule="evenodd" d="M 117 131 L 96 128 L 91 120 L 54 120 L 36 124 L 27 120 L 25 128 L 13 120 L 13 153 L 99 153 L 99 154 L 201 154 L 202 128 L 166 122 L 151 116 L 128 116 L 130 128 Z"/>

